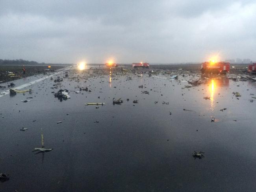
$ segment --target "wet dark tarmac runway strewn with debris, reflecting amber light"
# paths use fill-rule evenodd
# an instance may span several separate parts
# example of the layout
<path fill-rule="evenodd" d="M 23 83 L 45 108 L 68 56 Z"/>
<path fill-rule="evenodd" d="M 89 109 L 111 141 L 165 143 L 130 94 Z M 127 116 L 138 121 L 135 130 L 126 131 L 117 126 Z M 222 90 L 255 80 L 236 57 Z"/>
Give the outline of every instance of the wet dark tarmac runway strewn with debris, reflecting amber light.
<path fill-rule="evenodd" d="M 255 82 L 215 77 L 184 88 L 191 76 L 84 74 L 69 70 L 26 87 L 32 94 L 0 98 L 0 172 L 10 178 L 0 191 L 254 191 Z M 70 99 L 54 98 L 59 89 Z M 106 105 L 85 106 L 95 102 Z M 35 154 L 42 133 L 53 150 Z"/>

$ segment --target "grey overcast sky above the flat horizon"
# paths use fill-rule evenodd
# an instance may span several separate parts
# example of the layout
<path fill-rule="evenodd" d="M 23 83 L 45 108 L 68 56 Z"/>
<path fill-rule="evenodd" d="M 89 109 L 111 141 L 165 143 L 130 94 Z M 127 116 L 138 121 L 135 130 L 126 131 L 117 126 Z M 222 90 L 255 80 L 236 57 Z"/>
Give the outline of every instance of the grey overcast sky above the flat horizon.
<path fill-rule="evenodd" d="M 255 0 L 0 0 L 0 59 L 256 61 Z"/>

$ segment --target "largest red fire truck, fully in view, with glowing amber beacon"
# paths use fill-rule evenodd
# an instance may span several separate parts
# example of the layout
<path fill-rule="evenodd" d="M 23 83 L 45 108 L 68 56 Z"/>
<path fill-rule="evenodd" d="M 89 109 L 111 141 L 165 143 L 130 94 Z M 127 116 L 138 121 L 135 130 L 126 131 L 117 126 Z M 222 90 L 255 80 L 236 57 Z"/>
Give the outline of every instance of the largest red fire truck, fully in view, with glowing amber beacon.
<path fill-rule="evenodd" d="M 226 62 L 204 62 L 201 65 L 202 73 L 211 73 L 211 74 L 226 74 L 229 72 L 230 63 Z"/>

